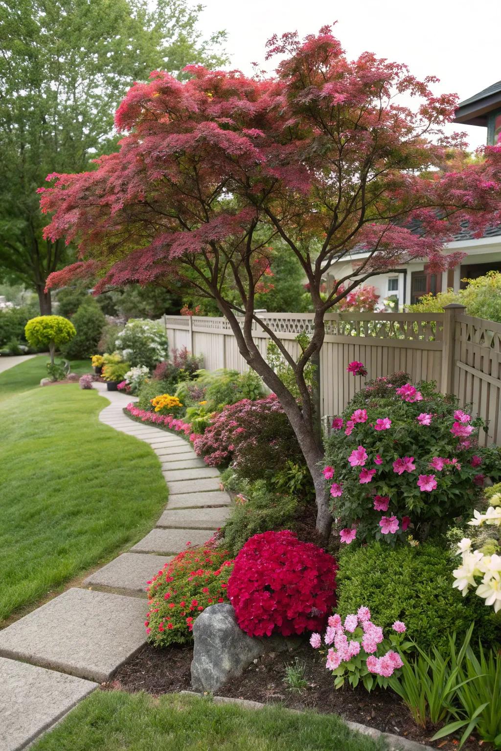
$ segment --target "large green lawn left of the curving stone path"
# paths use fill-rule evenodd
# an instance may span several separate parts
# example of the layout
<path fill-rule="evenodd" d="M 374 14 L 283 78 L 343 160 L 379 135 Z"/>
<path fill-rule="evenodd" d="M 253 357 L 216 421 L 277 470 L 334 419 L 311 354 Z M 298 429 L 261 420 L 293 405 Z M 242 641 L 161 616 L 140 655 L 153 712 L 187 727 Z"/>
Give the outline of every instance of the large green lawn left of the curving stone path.
<path fill-rule="evenodd" d="M 77 384 L 0 402 L 0 622 L 139 540 L 167 502 L 158 458 L 98 421 L 106 405 Z"/>

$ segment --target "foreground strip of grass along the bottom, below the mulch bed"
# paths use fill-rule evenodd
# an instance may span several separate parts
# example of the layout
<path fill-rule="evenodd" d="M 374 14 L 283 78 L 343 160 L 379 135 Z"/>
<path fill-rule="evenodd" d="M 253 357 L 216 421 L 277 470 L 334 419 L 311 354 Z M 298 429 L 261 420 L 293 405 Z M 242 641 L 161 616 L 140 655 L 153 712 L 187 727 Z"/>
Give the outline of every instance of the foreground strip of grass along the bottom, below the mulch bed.
<path fill-rule="evenodd" d="M 33 751 L 383 751 L 335 715 L 244 710 L 210 698 L 95 691 Z"/>

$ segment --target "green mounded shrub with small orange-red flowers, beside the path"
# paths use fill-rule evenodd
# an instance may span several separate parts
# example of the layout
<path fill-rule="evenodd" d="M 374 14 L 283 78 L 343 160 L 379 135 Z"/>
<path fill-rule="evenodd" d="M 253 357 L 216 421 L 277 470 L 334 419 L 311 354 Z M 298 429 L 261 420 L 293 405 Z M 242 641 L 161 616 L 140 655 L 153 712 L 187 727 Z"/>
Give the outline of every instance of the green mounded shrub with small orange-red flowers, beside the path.
<path fill-rule="evenodd" d="M 188 547 L 148 582 L 144 625 L 155 647 L 191 641 L 193 622 L 209 605 L 225 602 L 233 560 L 228 550 Z"/>

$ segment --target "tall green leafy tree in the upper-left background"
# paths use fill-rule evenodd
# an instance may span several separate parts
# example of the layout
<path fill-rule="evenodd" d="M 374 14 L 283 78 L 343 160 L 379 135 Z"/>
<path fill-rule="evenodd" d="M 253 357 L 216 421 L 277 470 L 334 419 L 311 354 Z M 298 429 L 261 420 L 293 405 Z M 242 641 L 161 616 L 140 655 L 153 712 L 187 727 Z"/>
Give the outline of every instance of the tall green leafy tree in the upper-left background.
<path fill-rule="evenodd" d="M 48 172 L 75 172 L 116 147 L 113 111 L 155 68 L 219 65 L 225 35 L 201 38 L 201 5 L 183 0 L 7 0 L 0 5 L 0 274 L 35 289 L 68 262 L 44 239 L 35 191 Z"/>

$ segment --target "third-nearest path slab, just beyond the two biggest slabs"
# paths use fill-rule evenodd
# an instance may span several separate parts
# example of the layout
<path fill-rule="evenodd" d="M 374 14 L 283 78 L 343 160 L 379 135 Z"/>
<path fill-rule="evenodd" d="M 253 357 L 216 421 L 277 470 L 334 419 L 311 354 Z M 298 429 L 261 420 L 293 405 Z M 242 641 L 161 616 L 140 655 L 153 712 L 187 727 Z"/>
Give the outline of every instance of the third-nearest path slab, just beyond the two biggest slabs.
<path fill-rule="evenodd" d="M 83 584 L 87 587 L 113 587 L 116 590 L 146 592 L 146 582 L 152 578 L 171 556 L 152 556 L 146 553 L 122 553 L 99 571 L 94 572 Z"/>

